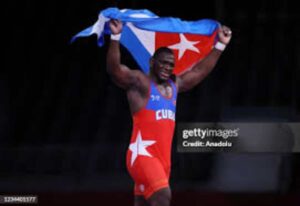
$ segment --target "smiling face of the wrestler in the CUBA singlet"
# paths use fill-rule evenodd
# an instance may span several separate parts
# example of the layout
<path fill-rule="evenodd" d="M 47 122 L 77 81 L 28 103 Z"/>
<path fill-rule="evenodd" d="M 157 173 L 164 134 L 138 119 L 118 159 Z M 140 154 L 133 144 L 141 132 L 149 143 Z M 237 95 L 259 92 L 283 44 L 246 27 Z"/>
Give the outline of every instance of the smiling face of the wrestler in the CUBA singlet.
<path fill-rule="evenodd" d="M 152 59 L 152 69 L 155 76 L 160 81 L 166 81 L 173 73 L 175 66 L 174 55 L 169 53 L 161 53 Z"/>

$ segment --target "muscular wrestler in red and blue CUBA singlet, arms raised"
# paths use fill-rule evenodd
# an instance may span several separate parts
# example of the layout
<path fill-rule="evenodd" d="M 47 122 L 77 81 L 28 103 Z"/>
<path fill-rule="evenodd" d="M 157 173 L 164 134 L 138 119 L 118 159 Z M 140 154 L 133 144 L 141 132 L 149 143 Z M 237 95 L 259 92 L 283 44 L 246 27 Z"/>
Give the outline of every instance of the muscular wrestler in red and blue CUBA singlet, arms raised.
<path fill-rule="evenodd" d="M 171 78 L 175 66 L 172 50 L 166 47 L 156 50 L 149 60 L 149 75 L 131 70 L 120 62 L 116 35 L 121 33 L 122 23 L 111 20 L 109 26 L 112 38 L 107 53 L 107 71 L 113 81 L 126 90 L 133 118 L 127 169 L 135 182 L 134 205 L 168 206 L 177 94 L 193 88 L 212 71 L 231 39 L 231 30 L 220 27 L 219 45 L 190 70 Z"/>

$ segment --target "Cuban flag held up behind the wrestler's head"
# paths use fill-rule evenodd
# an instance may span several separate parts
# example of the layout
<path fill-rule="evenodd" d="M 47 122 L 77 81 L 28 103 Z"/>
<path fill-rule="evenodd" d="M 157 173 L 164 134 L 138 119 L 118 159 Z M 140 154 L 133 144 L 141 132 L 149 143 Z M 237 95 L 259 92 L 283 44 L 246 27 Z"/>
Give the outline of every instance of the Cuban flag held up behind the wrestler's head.
<path fill-rule="evenodd" d="M 175 75 L 185 72 L 209 54 L 220 26 L 211 19 L 183 21 L 174 17 L 159 17 L 146 9 L 108 8 L 100 12 L 94 25 L 79 32 L 72 41 L 96 34 L 98 45 L 102 46 L 104 35 L 111 34 L 110 19 L 123 22 L 120 43 L 145 73 L 149 73 L 149 59 L 155 50 L 164 46 L 172 49 L 175 54 Z"/>

